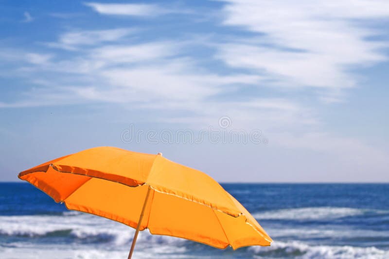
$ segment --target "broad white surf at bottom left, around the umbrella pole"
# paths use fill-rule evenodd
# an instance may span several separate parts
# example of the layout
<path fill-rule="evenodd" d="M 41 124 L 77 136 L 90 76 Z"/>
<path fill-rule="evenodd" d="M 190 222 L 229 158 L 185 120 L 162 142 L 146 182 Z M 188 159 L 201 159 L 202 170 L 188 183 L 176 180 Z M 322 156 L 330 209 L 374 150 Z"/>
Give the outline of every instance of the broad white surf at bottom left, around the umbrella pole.
<path fill-rule="evenodd" d="M 72 238 L 111 237 L 103 243 L 30 243 L 30 237 L 40 237 L 54 231 L 69 231 Z M 126 258 L 135 230 L 124 224 L 86 213 L 58 215 L 0 216 L 0 234 L 27 237 L 24 241 L 0 245 L 1 259 L 58 258 L 103 259 Z M 184 239 L 151 235 L 141 231 L 137 240 L 135 258 L 191 258 Z M 144 252 L 143 252 L 144 251 Z M 196 257 L 193 257 L 196 258 Z"/>

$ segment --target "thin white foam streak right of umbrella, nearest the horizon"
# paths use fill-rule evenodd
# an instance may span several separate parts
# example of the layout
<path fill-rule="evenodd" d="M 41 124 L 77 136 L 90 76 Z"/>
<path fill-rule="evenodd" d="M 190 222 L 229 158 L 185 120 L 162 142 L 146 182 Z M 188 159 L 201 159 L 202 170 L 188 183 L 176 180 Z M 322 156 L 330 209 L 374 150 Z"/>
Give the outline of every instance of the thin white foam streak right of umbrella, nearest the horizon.
<path fill-rule="evenodd" d="M 281 219 L 281 220 L 320 220 L 336 219 L 355 215 L 361 215 L 368 210 L 338 207 L 306 207 L 282 210 L 268 210 L 252 215 L 256 219 Z"/>

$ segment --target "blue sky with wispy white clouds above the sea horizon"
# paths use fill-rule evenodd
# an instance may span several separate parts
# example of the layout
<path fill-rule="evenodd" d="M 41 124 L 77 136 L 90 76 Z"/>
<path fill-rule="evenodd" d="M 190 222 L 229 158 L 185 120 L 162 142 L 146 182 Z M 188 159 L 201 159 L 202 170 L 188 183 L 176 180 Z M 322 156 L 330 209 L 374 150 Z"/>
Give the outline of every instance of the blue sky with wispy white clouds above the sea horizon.
<path fill-rule="evenodd" d="M 2 1 L 0 180 L 95 146 L 220 182 L 389 181 L 387 0 Z"/>

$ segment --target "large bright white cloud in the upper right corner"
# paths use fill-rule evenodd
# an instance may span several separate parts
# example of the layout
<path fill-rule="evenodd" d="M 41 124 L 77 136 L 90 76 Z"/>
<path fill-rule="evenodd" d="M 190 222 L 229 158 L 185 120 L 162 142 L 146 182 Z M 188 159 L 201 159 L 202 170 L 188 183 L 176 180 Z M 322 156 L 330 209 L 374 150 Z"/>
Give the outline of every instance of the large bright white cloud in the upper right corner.
<path fill-rule="evenodd" d="M 227 2 L 223 24 L 258 36 L 222 45 L 217 57 L 232 67 L 264 74 L 276 85 L 353 87 L 357 81 L 351 67 L 386 59 L 379 49 L 388 43 L 368 40 L 379 31 L 356 19 L 388 18 L 388 1 Z"/>

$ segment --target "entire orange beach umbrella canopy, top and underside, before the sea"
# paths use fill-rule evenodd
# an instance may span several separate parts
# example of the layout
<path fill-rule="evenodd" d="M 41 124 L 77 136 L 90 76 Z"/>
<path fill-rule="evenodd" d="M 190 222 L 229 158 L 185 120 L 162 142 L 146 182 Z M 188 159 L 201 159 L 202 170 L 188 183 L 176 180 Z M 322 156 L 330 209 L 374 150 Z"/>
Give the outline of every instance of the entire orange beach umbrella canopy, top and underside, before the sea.
<path fill-rule="evenodd" d="M 148 228 L 152 234 L 233 249 L 272 242 L 251 214 L 210 176 L 160 153 L 95 147 L 35 166 L 18 177 L 69 210 L 137 228 L 136 236 L 138 230 Z"/>

